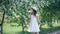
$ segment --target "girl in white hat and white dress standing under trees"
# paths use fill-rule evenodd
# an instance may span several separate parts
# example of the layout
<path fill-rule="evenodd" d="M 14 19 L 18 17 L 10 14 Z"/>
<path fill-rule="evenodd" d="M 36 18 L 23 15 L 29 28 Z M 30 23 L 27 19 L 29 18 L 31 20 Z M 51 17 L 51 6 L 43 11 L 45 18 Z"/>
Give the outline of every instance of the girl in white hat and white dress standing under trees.
<path fill-rule="evenodd" d="M 31 32 L 32 34 L 39 34 L 39 26 L 38 26 L 38 14 L 37 14 L 37 8 L 36 7 L 32 7 L 31 8 L 31 15 L 30 15 L 30 25 L 29 25 L 29 29 L 28 32 Z"/>

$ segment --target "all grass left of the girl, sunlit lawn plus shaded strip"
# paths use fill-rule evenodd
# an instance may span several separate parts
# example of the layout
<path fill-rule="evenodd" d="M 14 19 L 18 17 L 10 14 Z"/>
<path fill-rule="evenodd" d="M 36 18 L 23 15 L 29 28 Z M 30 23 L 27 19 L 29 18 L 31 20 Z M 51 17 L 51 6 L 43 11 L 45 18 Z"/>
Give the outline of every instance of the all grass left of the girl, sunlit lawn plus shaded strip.
<path fill-rule="evenodd" d="M 4 23 L 3 24 L 3 34 L 23 34 L 22 27 L 18 26 L 16 23 Z M 31 34 L 24 31 L 24 34 Z"/>

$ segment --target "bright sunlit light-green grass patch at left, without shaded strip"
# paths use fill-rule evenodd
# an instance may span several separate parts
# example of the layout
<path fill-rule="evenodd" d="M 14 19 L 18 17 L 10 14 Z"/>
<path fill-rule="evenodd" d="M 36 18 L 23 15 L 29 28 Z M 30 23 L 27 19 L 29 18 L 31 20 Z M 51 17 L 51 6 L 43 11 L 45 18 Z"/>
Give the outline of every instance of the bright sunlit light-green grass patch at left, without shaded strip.
<path fill-rule="evenodd" d="M 12 26 L 10 23 L 3 24 L 3 33 L 4 34 L 16 34 L 17 32 L 22 31 L 21 26 Z"/>

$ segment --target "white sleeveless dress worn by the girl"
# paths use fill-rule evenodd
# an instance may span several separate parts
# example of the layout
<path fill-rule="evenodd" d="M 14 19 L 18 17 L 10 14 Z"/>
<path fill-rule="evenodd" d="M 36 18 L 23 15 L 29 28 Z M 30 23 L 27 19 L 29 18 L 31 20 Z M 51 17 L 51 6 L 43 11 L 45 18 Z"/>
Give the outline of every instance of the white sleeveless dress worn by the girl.
<path fill-rule="evenodd" d="M 36 14 L 36 16 L 38 16 L 38 14 Z M 31 15 L 28 32 L 39 32 L 40 31 L 36 16 Z"/>

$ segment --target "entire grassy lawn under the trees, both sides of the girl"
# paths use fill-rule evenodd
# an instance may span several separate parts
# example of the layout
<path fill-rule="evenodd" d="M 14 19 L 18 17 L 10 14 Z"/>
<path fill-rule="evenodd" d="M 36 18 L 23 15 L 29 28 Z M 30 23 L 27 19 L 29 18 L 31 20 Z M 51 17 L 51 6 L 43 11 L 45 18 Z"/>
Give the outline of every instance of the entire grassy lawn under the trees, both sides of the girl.
<path fill-rule="evenodd" d="M 22 34 L 22 27 L 17 26 L 17 23 L 4 23 L 3 24 L 3 34 Z M 55 25 L 56 26 L 56 25 Z M 47 24 L 43 25 L 40 29 L 40 34 L 47 34 L 49 32 L 53 32 L 56 30 L 59 30 L 60 27 L 48 27 Z M 27 29 L 25 28 L 24 34 L 31 34 L 27 32 Z"/>

